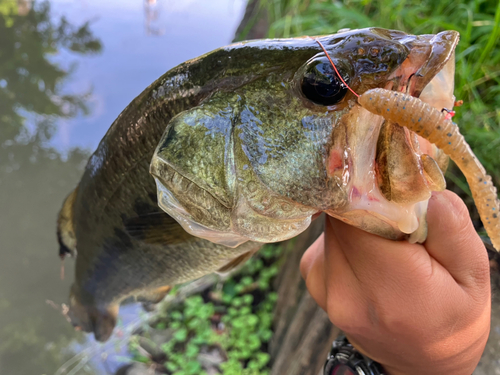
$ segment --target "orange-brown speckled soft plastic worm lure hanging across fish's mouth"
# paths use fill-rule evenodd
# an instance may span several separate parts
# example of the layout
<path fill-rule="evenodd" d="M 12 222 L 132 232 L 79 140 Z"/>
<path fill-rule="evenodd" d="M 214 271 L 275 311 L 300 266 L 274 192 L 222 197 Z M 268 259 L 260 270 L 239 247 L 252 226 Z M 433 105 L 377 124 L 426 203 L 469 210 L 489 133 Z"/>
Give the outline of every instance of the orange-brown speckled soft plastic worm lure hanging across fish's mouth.
<path fill-rule="evenodd" d="M 497 189 L 449 116 L 418 98 L 384 89 L 368 90 L 358 102 L 366 110 L 406 126 L 434 143 L 457 164 L 467 179 L 484 228 L 495 249 L 500 251 Z"/>

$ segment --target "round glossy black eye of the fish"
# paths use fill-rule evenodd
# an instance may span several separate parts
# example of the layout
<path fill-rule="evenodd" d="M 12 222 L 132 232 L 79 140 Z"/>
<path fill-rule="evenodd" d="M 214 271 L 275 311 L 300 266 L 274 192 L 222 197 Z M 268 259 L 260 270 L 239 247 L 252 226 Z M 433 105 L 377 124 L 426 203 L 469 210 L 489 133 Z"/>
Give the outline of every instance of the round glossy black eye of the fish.
<path fill-rule="evenodd" d="M 335 64 L 344 81 L 349 84 L 349 74 L 342 66 Z M 304 96 L 319 105 L 335 105 L 347 94 L 347 86 L 338 78 L 332 64 L 326 57 L 310 61 L 301 81 Z"/>

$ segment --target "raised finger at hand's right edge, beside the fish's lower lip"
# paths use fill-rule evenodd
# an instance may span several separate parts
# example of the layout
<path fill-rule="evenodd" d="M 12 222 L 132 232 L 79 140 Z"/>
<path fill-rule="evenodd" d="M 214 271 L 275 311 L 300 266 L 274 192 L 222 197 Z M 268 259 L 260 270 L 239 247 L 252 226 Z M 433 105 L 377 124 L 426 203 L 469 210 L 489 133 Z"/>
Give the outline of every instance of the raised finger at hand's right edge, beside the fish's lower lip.
<path fill-rule="evenodd" d="M 458 282 L 475 285 L 489 280 L 488 254 L 467 207 L 455 193 L 448 190 L 433 193 L 427 222 L 427 251 Z"/>

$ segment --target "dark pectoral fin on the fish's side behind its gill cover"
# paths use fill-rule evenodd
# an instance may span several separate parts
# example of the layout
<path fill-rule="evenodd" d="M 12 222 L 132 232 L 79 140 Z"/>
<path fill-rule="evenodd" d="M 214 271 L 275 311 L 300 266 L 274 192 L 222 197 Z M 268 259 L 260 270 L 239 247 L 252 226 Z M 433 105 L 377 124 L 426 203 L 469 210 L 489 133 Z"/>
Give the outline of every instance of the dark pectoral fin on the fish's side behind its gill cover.
<path fill-rule="evenodd" d="M 130 217 L 123 224 L 131 237 L 151 245 L 175 244 L 194 238 L 164 212 Z"/>

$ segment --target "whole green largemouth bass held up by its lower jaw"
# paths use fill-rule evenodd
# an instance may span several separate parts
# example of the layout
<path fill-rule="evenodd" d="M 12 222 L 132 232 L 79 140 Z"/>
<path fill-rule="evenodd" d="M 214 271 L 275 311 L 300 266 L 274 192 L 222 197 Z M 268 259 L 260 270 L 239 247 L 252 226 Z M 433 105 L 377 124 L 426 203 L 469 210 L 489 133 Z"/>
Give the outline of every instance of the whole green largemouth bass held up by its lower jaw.
<path fill-rule="evenodd" d="M 458 33 L 317 40 L 345 83 L 313 38 L 245 41 L 169 70 L 118 116 L 58 218 L 59 255 L 76 255 L 74 326 L 106 341 L 122 302 L 228 272 L 319 212 L 425 240 L 446 155 L 363 109 L 346 84 L 452 108 Z"/>

